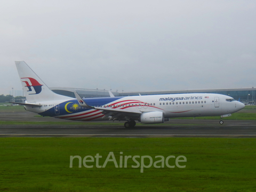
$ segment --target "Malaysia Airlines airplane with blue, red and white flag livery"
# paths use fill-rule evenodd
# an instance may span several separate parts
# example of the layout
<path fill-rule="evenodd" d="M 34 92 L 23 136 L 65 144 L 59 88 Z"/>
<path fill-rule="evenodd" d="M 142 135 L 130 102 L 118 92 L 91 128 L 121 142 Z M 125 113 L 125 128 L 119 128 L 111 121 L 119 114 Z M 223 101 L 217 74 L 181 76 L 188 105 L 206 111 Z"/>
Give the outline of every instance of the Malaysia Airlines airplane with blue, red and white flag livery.
<path fill-rule="evenodd" d="M 74 121 L 125 121 L 124 127 L 142 124 L 164 123 L 174 117 L 229 117 L 244 108 L 242 102 L 227 95 L 214 93 L 182 93 L 162 95 L 138 95 L 129 97 L 75 98 L 54 93 L 25 61 L 15 61 L 20 76 L 28 111 Z"/>

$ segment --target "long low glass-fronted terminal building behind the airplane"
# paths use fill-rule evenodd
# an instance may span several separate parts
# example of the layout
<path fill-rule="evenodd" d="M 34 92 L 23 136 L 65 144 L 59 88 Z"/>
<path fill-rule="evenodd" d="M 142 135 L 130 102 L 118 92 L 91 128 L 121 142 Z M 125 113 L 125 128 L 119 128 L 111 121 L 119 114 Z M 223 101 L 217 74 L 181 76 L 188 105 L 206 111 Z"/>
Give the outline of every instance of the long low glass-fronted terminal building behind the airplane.
<path fill-rule="evenodd" d="M 64 88 L 50 87 L 50 89 L 58 94 L 66 95 L 75 98 L 74 91 L 79 93 L 84 98 L 110 97 L 109 90 L 99 89 L 79 89 L 79 88 Z M 112 92 L 115 97 L 125 97 L 133 95 L 155 95 L 155 94 L 178 94 L 178 93 L 218 93 L 229 95 L 235 100 L 239 100 L 246 104 L 255 104 L 256 88 L 237 88 L 237 89 L 207 89 L 207 90 L 171 90 L 171 91 L 151 91 L 151 92 Z"/>

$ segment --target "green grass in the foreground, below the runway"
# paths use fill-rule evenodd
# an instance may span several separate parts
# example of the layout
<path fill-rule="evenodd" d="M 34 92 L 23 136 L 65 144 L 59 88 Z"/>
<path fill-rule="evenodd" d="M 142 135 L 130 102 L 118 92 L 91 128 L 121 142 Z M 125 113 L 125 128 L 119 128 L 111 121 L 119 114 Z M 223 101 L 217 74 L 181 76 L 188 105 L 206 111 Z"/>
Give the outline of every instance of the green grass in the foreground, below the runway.
<path fill-rule="evenodd" d="M 256 139 L 0 138 L 0 191 L 255 191 Z M 214 146 L 214 147 L 213 147 Z M 127 168 L 78 168 L 70 156 L 184 155 L 187 162 L 156 169 L 129 159 Z M 149 162 L 145 162 L 148 164 Z M 170 159 L 174 165 L 174 160 Z"/>

